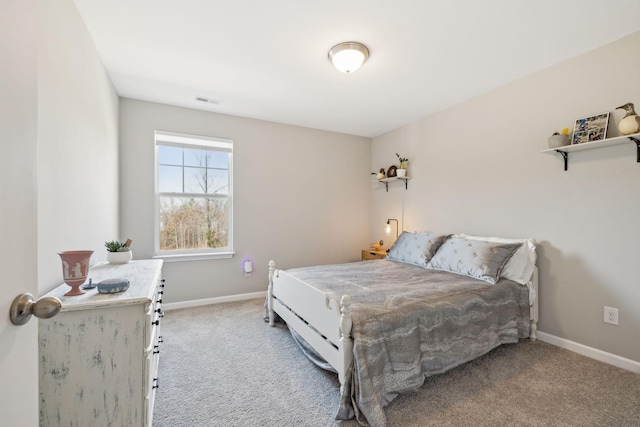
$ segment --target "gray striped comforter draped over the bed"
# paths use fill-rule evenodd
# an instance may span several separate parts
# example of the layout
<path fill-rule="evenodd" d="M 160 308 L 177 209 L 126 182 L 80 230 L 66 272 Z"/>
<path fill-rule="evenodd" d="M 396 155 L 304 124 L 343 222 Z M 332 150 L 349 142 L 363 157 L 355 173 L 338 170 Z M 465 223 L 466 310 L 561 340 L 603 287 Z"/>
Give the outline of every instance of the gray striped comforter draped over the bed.
<path fill-rule="evenodd" d="M 528 289 L 509 280 L 491 285 L 389 260 L 287 272 L 338 300 L 352 297 L 354 362 L 339 420 L 384 426 L 383 407 L 425 377 L 529 336 Z"/>

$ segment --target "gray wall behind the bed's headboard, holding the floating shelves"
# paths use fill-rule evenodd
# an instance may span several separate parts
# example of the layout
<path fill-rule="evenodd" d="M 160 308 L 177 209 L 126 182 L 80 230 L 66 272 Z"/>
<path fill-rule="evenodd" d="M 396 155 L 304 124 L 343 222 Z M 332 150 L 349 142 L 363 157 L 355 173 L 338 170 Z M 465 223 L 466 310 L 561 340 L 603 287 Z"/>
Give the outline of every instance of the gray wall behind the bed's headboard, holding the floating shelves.
<path fill-rule="evenodd" d="M 628 143 L 540 153 L 574 120 L 640 109 L 640 33 L 373 139 L 372 169 L 410 159 L 409 189 L 373 187 L 371 240 L 387 217 L 407 230 L 532 237 L 540 330 L 640 361 L 640 164 Z M 517 58 L 514 58 L 517 60 Z M 425 94 L 428 96 L 428 94 Z M 620 325 L 603 323 L 603 306 Z"/>

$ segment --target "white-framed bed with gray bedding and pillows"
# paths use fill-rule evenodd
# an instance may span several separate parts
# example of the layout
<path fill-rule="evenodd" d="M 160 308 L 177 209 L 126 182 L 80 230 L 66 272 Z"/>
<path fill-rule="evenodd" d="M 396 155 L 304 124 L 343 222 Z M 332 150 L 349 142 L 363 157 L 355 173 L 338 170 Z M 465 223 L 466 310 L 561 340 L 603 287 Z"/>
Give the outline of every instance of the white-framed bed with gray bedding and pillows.
<path fill-rule="evenodd" d="M 386 259 L 279 270 L 267 316 L 337 372 L 336 419 L 385 426 L 384 407 L 493 348 L 536 339 L 530 239 L 403 232 Z"/>

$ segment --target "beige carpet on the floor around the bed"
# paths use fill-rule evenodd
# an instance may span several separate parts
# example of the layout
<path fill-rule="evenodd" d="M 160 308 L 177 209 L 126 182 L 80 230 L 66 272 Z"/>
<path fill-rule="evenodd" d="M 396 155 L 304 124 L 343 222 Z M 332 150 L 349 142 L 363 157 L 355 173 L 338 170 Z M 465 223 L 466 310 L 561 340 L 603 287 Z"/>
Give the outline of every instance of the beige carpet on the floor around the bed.
<path fill-rule="evenodd" d="M 309 362 L 263 300 L 166 313 L 154 426 L 342 426 L 337 376 Z M 390 426 L 640 426 L 640 375 L 523 340 L 386 408 Z"/>

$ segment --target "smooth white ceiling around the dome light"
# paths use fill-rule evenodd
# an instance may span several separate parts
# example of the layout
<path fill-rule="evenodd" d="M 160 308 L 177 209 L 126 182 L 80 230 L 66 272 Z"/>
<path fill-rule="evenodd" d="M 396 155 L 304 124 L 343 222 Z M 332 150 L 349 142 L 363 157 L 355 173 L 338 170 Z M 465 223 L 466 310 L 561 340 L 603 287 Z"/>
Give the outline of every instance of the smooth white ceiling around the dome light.
<path fill-rule="evenodd" d="M 122 97 L 367 137 L 640 30 L 640 0 L 75 2 Z"/>

